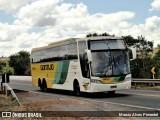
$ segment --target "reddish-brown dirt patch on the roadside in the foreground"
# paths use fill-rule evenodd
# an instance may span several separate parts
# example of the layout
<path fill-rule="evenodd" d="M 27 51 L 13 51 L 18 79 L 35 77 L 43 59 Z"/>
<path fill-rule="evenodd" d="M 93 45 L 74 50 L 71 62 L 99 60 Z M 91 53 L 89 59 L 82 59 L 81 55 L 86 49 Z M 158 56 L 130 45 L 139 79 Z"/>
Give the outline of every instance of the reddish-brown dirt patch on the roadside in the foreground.
<path fill-rule="evenodd" d="M 21 105 L 27 110 L 41 111 L 64 111 L 68 106 L 86 106 L 88 102 L 72 98 L 64 98 L 59 96 L 48 96 L 45 94 L 37 94 L 33 92 L 16 93 Z M 70 109 L 70 108 L 69 108 Z"/>

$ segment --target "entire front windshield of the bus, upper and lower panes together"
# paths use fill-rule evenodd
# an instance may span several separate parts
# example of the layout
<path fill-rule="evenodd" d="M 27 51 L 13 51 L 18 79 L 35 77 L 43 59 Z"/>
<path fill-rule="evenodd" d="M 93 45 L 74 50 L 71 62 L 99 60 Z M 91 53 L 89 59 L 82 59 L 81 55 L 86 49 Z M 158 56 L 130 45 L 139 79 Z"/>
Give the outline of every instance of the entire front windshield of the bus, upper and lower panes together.
<path fill-rule="evenodd" d="M 89 41 L 92 54 L 92 76 L 121 76 L 130 74 L 128 51 L 124 40 Z"/>

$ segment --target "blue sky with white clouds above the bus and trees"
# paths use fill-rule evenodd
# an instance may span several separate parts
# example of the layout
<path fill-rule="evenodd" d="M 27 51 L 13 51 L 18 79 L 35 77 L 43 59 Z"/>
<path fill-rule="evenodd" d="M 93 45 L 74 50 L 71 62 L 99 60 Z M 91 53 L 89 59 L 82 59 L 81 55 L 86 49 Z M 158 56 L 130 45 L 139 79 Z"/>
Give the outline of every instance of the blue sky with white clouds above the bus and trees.
<path fill-rule="evenodd" d="M 0 57 L 89 33 L 160 44 L 160 0 L 0 0 Z"/>

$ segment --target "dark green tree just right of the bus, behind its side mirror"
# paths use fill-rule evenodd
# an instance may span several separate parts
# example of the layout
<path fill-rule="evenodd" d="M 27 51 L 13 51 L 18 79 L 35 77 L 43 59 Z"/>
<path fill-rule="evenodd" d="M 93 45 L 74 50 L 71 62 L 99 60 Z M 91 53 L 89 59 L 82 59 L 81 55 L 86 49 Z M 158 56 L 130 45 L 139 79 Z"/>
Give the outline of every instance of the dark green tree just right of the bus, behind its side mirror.
<path fill-rule="evenodd" d="M 147 41 L 143 36 L 135 39 L 129 35 L 123 38 L 129 47 L 134 47 L 137 51 L 137 59 L 131 61 L 132 76 L 134 78 L 152 78 L 150 70 L 154 64 L 151 58 L 153 41 Z"/>

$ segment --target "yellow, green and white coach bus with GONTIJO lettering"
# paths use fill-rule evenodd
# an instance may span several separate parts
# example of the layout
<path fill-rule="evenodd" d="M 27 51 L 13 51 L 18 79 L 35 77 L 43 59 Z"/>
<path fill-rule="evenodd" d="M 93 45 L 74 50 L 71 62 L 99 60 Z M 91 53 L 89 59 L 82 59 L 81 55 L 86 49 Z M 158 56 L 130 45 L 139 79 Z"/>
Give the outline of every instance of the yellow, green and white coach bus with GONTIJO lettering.
<path fill-rule="evenodd" d="M 135 57 L 135 53 L 132 53 Z M 70 38 L 33 48 L 32 83 L 80 92 L 110 92 L 131 88 L 129 51 L 121 37 Z"/>

